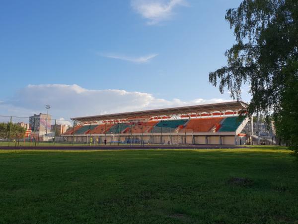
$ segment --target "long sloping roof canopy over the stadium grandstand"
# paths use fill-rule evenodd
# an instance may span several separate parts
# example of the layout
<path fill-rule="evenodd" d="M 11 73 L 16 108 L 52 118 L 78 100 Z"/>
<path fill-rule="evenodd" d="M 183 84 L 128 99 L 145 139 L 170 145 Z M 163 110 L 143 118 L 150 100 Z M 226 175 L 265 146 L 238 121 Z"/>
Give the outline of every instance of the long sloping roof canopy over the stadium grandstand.
<path fill-rule="evenodd" d="M 124 113 L 112 113 L 95 116 L 83 116 L 71 118 L 74 121 L 85 122 L 85 121 L 100 121 L 100 120 L 115 120 L 115 119 L 129 119 L 136 117 L 152 117 L 160 115 L 181 115 L 191 113 L 204 113 L 204 112 L 225 112 L 225 111 L 239 111 L 245 110 L 247 104 L 242 101 L 232 101 L 217 104 L 205 104 L 197 106 L 187 106 L 179 108 L 167 108 L 149 111 L 138 111 L 138 112 L 124 112 Z"/>

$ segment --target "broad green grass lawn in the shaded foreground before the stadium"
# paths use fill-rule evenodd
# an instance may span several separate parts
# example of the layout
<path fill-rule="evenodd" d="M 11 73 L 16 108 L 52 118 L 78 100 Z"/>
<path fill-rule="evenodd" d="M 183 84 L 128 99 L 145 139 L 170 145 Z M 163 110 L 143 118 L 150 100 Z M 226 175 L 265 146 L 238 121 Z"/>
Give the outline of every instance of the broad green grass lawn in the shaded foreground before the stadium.
<path fill-rule="evenodd" d="M 282 147 L 0 150 L 0 223 L 298 223 Z"/>

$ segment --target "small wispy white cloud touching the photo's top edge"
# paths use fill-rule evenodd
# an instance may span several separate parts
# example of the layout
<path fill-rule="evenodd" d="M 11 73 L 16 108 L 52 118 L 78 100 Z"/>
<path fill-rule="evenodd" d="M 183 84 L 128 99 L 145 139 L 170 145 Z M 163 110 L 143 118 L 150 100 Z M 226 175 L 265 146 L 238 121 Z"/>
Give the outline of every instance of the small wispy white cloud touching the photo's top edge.
<path fill-rule="evenodd" d="M 132 0 L 133 9 L 148 20 L 147 24 L 154 25 L 169 19 L 173 9 L 179 5 L 186 5 L 185 0 Z"/>

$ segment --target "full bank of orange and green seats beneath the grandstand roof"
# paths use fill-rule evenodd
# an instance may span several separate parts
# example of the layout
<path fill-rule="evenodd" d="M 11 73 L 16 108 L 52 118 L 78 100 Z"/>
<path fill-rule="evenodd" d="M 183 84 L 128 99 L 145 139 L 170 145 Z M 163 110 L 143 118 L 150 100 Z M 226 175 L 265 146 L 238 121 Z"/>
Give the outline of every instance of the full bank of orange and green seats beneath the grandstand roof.
<path fill-rule="evenodd" d="M 111 133 L 166 133 L 166 132 L 233 132 L 243 121 L 243 117 L 209 117 L 179 120 L 161 120 L 139 122 L 131 125 L 127 123 L 104 123 L 99 125 L 75 126 L 74 130 L 66 131 L 70 134 L 111 134 Z"/>

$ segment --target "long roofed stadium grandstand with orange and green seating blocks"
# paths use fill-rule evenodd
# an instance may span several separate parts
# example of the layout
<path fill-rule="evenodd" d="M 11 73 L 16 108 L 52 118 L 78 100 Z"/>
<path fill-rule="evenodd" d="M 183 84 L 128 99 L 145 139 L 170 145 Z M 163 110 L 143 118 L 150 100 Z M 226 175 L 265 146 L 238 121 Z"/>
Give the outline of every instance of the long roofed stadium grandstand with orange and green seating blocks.
<path fill-rule="evenodd" d="M 247 104 L 233 101 L 159 110 L 74 117 L 65 141 L 141 144 L 248 144 Z M 251 122 L 252 127 L 252 122 Z"/>

